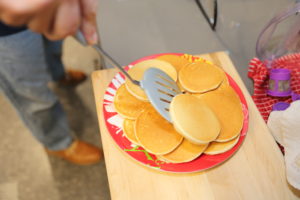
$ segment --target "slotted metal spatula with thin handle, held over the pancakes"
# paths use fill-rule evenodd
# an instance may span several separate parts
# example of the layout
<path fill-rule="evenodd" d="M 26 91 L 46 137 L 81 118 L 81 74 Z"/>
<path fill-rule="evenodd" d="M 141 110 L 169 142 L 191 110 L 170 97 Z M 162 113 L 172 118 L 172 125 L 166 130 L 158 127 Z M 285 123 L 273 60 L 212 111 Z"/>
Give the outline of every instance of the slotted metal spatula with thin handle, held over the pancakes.
<path fill-rule="evenodd" d="M 77 32 L 75 38 L 82 44 L 87 42 L 81 32 Z M 135 85 L 140 86 L 146 93 L 153 107 L 169 122 L 172 123 L 169 108 L 172 98 L 181 93 L 176 82 L 164 71 L 155 68 L 149 68 L 145 71 L 141 81 L 134 80 L 109 54 L 107 54 L 99 45 L 93 45 L 105 59 L 107 59 L 114 67 L 119 68 L 121 72 Z"/>

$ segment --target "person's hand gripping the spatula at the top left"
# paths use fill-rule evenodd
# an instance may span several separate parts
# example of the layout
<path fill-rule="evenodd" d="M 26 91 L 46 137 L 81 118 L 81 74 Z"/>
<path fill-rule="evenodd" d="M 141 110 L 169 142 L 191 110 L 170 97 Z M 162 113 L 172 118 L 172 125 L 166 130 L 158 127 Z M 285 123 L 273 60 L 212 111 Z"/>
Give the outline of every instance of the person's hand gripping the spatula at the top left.
<path fill-rule="evenodd" d="M 0 20 L 27 25 L 51 40 L 73 35 L 79 28 L 90 44 L 97 42 L 97 0 L 0 0 Z"/>

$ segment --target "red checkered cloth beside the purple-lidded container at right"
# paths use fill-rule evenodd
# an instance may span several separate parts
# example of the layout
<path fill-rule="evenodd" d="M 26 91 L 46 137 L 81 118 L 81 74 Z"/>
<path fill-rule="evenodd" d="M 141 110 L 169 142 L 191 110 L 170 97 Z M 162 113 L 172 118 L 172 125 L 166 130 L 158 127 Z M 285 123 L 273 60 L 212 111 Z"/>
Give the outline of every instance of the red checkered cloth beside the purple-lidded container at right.
<path fill-rule="evenodd" d="M 291 71 L 291 88 L 294 93 L 300 94 L 300 53 L 290 54 L 273 60 L 272 69 L 286 68 Z M 253 58 L 249 63 L 248 76 L 254 81 L 253 101 L 267 122 L 272 106 L 284 101 L 291 103 L 291 97 L 278 98 L 267 95 L 269 83 L 269 69 L 265 62 Z"/>

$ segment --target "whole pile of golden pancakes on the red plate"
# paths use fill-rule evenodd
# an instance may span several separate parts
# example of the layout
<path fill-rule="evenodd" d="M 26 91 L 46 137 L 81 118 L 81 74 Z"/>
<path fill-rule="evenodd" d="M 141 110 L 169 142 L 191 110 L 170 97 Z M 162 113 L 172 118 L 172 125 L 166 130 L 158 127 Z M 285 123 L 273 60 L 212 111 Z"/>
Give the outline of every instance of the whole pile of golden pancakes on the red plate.
<path fill-rule="evenodd" d="M 125 137 L 171 163 L 233 148 L 244 117 L 240 99 L 224 71 L 202 59 L 191 62 L 184 56 L 163 55 L 139 62 L 128 73 L 141 80 L 145 70 L 153 66 L 166 72 L 182 90 L 170 104 L 173 124 L 152 107 L 141 88 L 126 80 L 114 98 L 115 110 L 124 118 Z"/>

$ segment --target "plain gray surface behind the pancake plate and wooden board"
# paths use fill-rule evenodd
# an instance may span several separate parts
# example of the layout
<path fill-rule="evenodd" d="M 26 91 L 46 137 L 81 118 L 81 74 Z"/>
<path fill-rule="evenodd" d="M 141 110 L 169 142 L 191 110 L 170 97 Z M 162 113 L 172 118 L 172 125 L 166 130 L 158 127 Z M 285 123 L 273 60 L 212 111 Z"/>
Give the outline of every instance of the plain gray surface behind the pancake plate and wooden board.
<path fill-rule="evenodd" d="M 201 0 L 208 13 L 212 0 Z M 218 0 L 213 32 L 195 0 L 101 0 L 102 46 L 121 64 L 166 52 L 228 51 L 249 91 L 248 62 L 257 37 L 276 11 L 295 0 Z"/>

